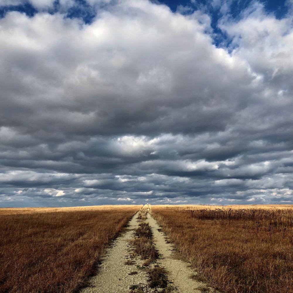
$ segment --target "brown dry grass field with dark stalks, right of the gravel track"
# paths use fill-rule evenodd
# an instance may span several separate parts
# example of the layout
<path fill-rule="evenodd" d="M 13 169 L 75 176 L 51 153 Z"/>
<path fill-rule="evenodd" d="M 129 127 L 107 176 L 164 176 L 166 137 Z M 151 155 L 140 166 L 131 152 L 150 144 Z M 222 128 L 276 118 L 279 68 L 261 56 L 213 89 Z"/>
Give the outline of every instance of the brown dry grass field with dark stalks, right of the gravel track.
<path fill-rule="evenodd" d="M 152 206 L 152 214 L 222 292 L 293 292 L 292 206 Z"/>

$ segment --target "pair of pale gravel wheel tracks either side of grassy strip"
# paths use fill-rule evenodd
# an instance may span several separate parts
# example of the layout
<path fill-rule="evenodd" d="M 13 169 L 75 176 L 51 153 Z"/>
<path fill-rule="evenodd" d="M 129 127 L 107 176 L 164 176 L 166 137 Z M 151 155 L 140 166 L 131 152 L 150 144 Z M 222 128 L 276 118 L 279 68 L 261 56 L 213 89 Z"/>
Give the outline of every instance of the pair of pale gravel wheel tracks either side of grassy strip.
<path fill-rule="evenodd" d="M 151 226 L 154 244 L 160 254 L 157 264 L 168 270 L 168 278 L 174 286 L 173 291 L 180 293 L 214 292 L 207 284 L 190 278 L 194 271 L 188 266 L 188 263 L 179 259 L 172 244 L 166 242 L 159 225 L 149 213 L 146 222 Z M 97 275 L 89 280 L 89 287 L 82 289 L 80 293 L 129 293 L 131 285 L 147 286 L 147 272 L 140 269 L 143 261 L 139 257 L 132 256 L 131 239 L 134 238 L 134 229 L 138 227 L 138 224 L 136 214 L 129 222 L 127 231 L 108 248 Z M 137 273 L 129 275 L 131 272 Z M 152 290 L 148 289 L 146 292 L 152 292 Z"/>

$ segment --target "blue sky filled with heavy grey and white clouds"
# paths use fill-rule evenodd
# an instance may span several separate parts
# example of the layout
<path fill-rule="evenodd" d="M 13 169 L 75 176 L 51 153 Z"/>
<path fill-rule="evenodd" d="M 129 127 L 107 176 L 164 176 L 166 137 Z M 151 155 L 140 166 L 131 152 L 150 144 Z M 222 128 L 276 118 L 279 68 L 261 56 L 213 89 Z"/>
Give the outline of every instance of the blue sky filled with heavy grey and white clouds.
<path fill-rule="evenodd" d="M 293 204 L 293 1 L 0 0 L 0 207 Z"/>

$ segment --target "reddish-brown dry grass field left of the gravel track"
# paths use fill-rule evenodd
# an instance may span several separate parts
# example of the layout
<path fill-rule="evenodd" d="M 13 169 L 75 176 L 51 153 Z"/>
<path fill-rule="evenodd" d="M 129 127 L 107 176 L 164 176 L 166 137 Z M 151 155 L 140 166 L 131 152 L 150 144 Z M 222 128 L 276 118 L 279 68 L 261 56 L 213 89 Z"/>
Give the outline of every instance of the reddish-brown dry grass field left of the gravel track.
<path fill-rule="evenodd" d="M 138 209 L 0 209 L 0 292 L 75 292 Z"/>

